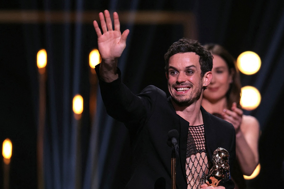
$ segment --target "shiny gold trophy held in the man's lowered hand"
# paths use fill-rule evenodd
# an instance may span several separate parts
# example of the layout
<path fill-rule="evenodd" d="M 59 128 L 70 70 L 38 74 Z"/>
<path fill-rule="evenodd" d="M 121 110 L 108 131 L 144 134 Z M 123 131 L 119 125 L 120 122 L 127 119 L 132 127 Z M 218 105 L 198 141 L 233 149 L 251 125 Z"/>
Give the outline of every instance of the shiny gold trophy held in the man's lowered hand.
<path fill-rule="evenodd" d="M 230 179 L 229 152 L 224 148 L 217 148 L 214 151 L 212 163 L 213 166 L 205 180 L 206 184 L 214 187 L 220 186 L 220 183 Z"/>

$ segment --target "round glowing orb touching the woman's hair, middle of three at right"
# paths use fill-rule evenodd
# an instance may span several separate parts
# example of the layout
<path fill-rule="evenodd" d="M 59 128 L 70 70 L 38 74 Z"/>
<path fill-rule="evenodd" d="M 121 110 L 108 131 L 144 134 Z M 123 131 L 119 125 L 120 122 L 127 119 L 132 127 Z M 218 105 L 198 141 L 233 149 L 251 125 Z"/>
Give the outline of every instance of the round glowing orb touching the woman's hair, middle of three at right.
<path fill-rule="evenodd" d="M 254 110 L 258 107 L 261 101 L 259 91 L 253 86 L 245 86 L 241 88 L 240 104 L 245 110 Z"/>

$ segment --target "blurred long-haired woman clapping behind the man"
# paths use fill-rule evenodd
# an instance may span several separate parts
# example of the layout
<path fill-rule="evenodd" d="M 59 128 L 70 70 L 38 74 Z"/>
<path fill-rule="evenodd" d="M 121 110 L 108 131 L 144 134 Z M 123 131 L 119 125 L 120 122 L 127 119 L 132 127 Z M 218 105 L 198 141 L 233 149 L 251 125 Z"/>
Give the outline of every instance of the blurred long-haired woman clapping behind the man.
<path fill-rule="evenodd" d="M 259 163 L 259 123 L 253 116 L 243 115 L 241 110 L 241 82 L 233 56 L 218 44 L 207 44 L 205 47 L 214 58 L 213 77 L 207 90 L 204 90 L 202 107 L 233 124 L 237 161 L 231 176 L 235 189 L 243 189 L 246 188 L 243 175 L 250 176 Z"/>

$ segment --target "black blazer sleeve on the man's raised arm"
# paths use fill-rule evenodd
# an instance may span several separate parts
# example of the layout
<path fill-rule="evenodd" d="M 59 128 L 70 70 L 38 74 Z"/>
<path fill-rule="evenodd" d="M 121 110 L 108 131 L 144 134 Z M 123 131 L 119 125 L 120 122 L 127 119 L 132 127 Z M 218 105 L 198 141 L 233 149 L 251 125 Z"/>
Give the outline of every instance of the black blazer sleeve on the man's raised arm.
<path fill-rule="evenodd" d="M 99 65 L 95 70 L 108 115 L 123 122 L 127 127 L 142 126 L 151 114 L 152 103 L 155 102 L 157 94 L 153 90 L 154 87 L 147 87 L 139 95 L 135 95 L 122 83 L 119 68 L 117 68 L 118 79 L 110 83 L 100 78 Z"/>

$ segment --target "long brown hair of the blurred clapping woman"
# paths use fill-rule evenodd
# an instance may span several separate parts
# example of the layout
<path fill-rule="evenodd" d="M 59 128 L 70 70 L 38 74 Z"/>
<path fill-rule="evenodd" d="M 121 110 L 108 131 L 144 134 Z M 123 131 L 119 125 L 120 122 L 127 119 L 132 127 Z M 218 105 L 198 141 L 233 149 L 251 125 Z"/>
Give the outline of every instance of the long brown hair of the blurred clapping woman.
<path fill-rule="evenodd" d="M 237 107 L 241 108 L 240 99 L 241 99 L 241 79 L 239 70 L 236 65 L 235 58 L 221 45 L 219 44 L 206 44 L 204 47 L 211 52 L 214 57 L 214 54 L 222 57 L 229 67 L 229 73 L 232 73 L 233 82 L 230 84 L 230 88 L 226 93 L 227 97 L 227 108 L 231 108 L 233 102 L 237 103 Z"/>

